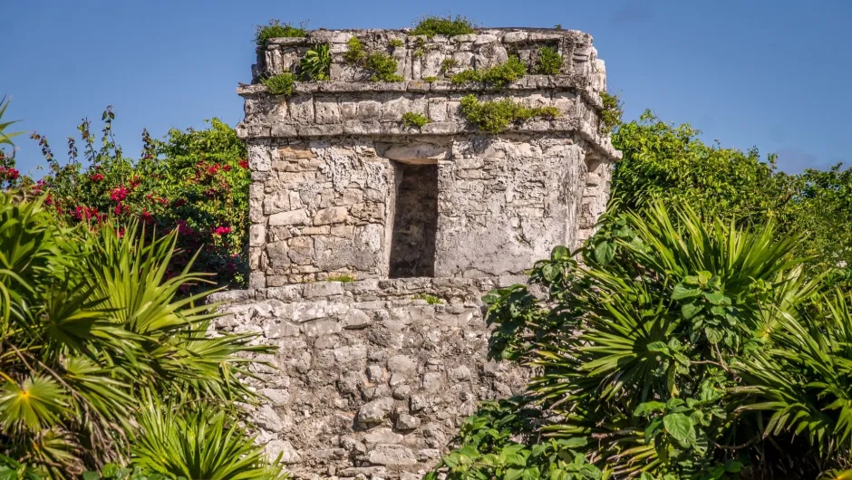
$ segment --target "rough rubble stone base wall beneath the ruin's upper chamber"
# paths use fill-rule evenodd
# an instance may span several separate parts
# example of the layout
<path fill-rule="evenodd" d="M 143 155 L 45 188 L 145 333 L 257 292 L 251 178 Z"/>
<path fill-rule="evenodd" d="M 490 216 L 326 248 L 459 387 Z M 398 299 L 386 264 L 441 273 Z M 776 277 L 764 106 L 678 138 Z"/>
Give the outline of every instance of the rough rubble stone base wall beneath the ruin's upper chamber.
<path fill-rule="evenodd" d="M 277 347 L 258 367 L 269 398 L 258 442 L 299 477 L 406 477 L 435 464 L 478 402 L 527 372 L 487 359 L 482 294 L 521 281 L 397 279 L 217 293 L 219 331 Z M 416 298 L 429 293 L 429 304 Z"/>

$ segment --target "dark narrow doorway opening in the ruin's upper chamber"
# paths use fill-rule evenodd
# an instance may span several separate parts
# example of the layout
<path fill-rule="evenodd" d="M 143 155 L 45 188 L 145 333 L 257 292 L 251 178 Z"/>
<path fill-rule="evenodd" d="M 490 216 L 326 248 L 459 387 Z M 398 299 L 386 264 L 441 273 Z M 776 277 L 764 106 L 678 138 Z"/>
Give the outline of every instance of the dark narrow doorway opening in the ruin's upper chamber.
<path fill-rule="evenodd" d="M 391 278 L 435 275 L 438 166 L 399 163 L 391 237 Z"/>

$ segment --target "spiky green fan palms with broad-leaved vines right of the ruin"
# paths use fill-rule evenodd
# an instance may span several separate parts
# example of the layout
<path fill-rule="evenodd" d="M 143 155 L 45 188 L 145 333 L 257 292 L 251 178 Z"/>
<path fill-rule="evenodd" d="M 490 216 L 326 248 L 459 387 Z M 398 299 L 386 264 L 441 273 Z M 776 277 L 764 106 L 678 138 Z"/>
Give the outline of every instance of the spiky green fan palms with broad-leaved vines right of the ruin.
<path fill-rule="evenodd" d="M 847 475 L 837 472 L 852 457 L 849 301 L 803 274 L 799 241 L 656 200 L 607 214 L 582 264 L 557 247 L 528 285 L 485 297 L 491 354 L 535 376 L 524 395 L 483 405 L 440 468 L 504 479 Z"/>

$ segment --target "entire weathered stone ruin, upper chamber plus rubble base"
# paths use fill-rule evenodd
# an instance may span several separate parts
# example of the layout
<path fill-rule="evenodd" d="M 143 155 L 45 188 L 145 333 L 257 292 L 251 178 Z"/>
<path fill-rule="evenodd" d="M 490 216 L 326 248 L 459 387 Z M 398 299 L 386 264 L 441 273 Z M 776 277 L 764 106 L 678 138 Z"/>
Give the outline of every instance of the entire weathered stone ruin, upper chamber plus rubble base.
<path fill-rule="evenodd" d="M 402 82 L 345 62 L 353 36 L 390 53 Z M 330 46 L 329 81 L 287 96 L 259 82 L 297 72 L 317 43 Z M 563 58 L 558 74 L 447 80 L 509 55 L 533 72 L 545 46 Z M 480 400 L 526 384 L 487 358 L 481 295 L 579 245 L 605 208 L 620 154 L 601 134 L 604 62 L 576 31 L 319 30 L 269 41 L 253 77 L 237 127 L 252 170 L 249 290 L 214 300 L 217 329 L 278 347 L 257 368 L 258 441 L 296 476 L 422 475 Z M 470 93 L 559 115 L 483 133 L 460 113 Z M 405 112 L 431 121 L 404 127 Z"/>

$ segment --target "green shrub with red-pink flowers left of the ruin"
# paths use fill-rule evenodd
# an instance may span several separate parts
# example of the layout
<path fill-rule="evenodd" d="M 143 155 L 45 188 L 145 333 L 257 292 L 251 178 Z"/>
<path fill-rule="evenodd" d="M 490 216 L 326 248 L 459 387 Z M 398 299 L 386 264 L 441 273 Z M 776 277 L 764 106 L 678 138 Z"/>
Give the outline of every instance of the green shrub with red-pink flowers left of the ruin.
<path fill-rule="evenodd" d="M 96 142 L 89 120 L 68 139 L 68 162 L 61 164 L 47 139 L 34 133 L 49 173 L 33 182 L 19 178 L 0 159 L 0 187 L 29 187 L 71 223 L 99 226 L 111 216 L 118 226 L 140 219 L 146 234 L 178 230 L 179 253 L 167 275 L 181 272 L 194 254 L 193 271 L 214 273 L 218 285 L 241 286 L 247 279 L 248 184 L 245 145 L 220 120 L 207 130 L 170 130 L 165 139 L 142 133 L 141 157 L 125 157 L 112 136 L 111 108 L 103 112 Z M 99 143 L 99 145 L 98 145 Z M 81 151 L 82 150 L 82 151 Z M 11 181 L 10 181 L 11 179 Z M 189 290 L 189 287 L 185 287 Z"/>

